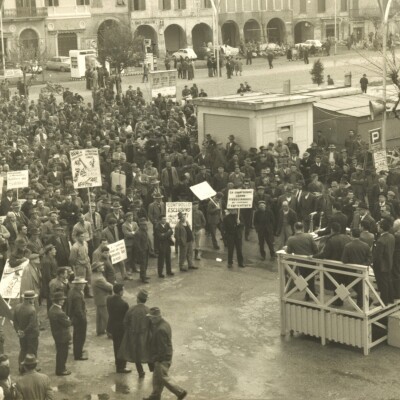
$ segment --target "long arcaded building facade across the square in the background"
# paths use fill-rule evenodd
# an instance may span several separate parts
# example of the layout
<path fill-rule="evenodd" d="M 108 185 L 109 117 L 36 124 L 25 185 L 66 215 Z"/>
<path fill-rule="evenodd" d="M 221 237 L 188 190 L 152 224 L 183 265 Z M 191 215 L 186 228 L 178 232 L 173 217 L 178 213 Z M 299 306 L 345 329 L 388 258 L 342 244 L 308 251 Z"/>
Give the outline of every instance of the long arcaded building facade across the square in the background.
<path fill-rule="evenodd" d="M 360 40 L 379 25 L 376 0 L 215 0 L 220 43 L 300 43 L 335 34 Z M 398 7 L 400 0 L 394 0 Z M 396 18 L 396 17 L 394 17 Z M 210 0 L 4 0 L 3 37 L 7 57 L 24 49 L 30 58 L 68 55 L 96 48 L 112 24 L 126 24 L 151 39 L 163 56 L 213 41 Z M 391 31 L 397 33 L 397 20 Z"/>

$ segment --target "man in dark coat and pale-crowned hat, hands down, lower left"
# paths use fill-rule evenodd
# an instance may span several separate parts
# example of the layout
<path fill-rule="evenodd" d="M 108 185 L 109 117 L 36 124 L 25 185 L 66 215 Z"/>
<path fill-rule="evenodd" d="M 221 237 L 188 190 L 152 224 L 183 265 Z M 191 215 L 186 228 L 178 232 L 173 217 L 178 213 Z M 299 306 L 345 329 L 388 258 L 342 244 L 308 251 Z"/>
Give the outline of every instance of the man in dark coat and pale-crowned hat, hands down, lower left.
<path fill-rule="evenodd" d="M 74 359 L 77 361 L 85 361 L 88 359 L 83 352 L 83 346 L 86 341 L 86 304 L 83 290 L 87 281 L 82 277 L 75 277 L 72 281 L 72 289 L 68 293 L 67 315 L 73 326 L 72 345 Z"/>

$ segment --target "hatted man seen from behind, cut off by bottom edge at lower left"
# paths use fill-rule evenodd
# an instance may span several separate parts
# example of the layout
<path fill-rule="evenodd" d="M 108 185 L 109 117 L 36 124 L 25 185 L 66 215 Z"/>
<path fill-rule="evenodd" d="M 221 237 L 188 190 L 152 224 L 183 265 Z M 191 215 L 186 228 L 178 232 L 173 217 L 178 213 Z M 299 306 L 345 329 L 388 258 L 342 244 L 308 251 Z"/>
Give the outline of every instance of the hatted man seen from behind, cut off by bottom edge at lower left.
<path fill-rule="evenodd" d="M 50 378 L 37 372 L 35 354 L 27 354 L 21 363 L 24 375 L 16 383 L 18 399 L 52 400 L 53 388 Z"/>

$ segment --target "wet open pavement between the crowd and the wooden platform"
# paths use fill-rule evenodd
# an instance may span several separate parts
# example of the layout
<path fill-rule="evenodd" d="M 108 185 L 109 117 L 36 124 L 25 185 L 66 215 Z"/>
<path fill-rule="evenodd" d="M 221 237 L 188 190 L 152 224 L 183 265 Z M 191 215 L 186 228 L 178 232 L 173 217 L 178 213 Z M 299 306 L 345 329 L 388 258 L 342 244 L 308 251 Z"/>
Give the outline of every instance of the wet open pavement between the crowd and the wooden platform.
<path fill-rule="evenodd" d="M 171 376 L 189 400 L 394 400 L 400 399 L 400 351 L 382 344 L 367 357 L 337 344 L 323 347 L 315 338 L 280 336 L 277 265 L 261 262 L 254 243 L 245 242 L 247 267 L 226 266 L 224 251 L 207 251 L 199 270 L 159 279 L 151 259 L 148 305 L 159 306 L 172 326 Z M 222 258 L 222 262 L 215 261 Z M 177 271 L 178 270 L 178 271 Z M 135 277 L 136 278 L 136 277 Z M 126 284 L 133 304 L 137 280 Z M 151 374 L 139 380 L 116 374 L 111 340 L 95 334 L 95 310 L 88 300 L 88 361 L 69 357 L 72 375 L 54 374 L 54 345 L 41 332 L 38 358 L 56 390 L 55 399 L 142 399 L 151 393 Z M 44 315 L 45 306 L 42 306 Z M 17 337 L 6 322 L 6 350 L 17 377 Z M 130 368 L 134 365 L 128 364 Z M 163 399 L 174 399 L 167 390 Z"/>

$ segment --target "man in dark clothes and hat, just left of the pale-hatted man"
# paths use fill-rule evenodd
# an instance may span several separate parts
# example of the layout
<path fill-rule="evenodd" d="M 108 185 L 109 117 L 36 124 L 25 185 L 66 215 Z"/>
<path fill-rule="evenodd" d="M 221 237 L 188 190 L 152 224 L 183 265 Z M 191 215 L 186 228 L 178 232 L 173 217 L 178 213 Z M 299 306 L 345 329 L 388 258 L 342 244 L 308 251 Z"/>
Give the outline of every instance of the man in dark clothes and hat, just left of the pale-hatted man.
<path fill-rule="evenodd" d="M 48 316 L 51 333 L 56 345 L 56 375 L 70 375 L 65 364 L 68 358 L 68 346 L 71 340 L 70 326 L 71 320 L 63 310 L 66 296 L 62 290 L 56 291 L 52 295 L 53 305 L 50 307 Z"/>

